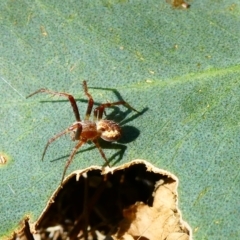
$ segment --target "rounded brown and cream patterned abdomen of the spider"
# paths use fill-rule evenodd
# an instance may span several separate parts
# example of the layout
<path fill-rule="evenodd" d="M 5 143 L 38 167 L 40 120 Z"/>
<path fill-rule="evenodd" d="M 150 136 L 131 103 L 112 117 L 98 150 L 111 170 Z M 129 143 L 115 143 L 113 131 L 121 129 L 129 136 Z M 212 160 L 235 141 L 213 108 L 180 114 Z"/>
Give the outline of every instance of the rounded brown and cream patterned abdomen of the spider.
<path fill-rule="evenodd" d="M 121 135 L 121 127 L 110 120 L 100 120 L 97 122 L 97 131 L 100 134 L 100 137 L 108 142 L 117 141 Z"/>

